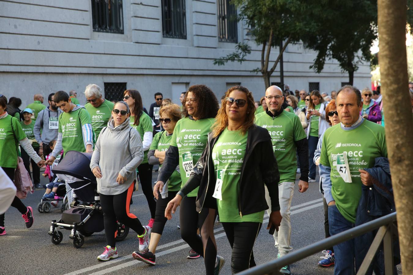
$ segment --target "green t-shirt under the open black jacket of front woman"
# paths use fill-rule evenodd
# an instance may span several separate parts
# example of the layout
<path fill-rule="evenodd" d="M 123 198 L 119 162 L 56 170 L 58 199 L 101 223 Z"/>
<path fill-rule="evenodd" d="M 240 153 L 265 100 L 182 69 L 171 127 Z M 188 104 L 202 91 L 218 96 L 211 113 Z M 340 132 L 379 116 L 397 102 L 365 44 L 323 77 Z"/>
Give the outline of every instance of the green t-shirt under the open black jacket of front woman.
<path fill-rule="evenodd" d="M 242 163 L 247 148 L 248 134 L 229 131 L 225 128 L 212 148 L 212 160 L 216 177 L 216 186 L 221 182 L 221 197 L 217 198 L 219 220 L 221 222 L 251 221 L 262 223 L 264 211 L 240 216 L 239 197 Z M 219 191 L 218 191 L 219 193 Z"/>

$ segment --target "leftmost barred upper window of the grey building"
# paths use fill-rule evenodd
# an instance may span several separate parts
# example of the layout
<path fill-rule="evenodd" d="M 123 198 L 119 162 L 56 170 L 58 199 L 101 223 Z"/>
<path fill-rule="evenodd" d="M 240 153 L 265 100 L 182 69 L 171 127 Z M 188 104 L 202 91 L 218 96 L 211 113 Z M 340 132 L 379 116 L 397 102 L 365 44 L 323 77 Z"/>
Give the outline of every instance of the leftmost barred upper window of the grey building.
<path fill-rule="evenodd" d="M 123 34 L 122 0 L 92 0 L 93 31 Z"/>

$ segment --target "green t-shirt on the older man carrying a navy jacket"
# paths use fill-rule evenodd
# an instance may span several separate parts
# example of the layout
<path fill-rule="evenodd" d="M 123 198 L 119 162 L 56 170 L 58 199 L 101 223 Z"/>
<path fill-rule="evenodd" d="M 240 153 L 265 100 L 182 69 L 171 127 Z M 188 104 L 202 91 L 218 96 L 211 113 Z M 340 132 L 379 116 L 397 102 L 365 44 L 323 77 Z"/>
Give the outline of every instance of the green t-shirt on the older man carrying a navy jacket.
<path fill-rule="evenodd" d="M 368 137 L 368 138 L 366 138 Z M 344 157 L 347 153 L 351 183 L 345 182 L 339 173 L 346 173 Z M 364 120 L 352 130 L 343 130 L 341 125 L 328 128 L 323 136 L 320 164 L 331 167 L 331 193 L 339 212 L 351 223 L 356 223 L 356 212 L 361 197 L 361 178 L 358 169 L 371 168 L 376 157 L 387 157 L 384 127 Z M 345 163 L 345 162 L 344 162 Z"/>

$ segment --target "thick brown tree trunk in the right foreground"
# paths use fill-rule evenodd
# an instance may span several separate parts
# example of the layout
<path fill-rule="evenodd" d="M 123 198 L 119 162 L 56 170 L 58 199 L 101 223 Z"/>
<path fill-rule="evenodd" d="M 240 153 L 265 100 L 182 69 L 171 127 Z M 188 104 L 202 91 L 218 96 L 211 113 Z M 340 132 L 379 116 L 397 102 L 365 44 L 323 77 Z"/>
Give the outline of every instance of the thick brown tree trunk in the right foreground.
<path fill-rule="evenodd" d="M 406 61 L 406 0 L 378 0 L 379 65 L 403 274 L 413 274 L 413 120 Z M 397 104 L 394 104 L 397 92 Z"/>

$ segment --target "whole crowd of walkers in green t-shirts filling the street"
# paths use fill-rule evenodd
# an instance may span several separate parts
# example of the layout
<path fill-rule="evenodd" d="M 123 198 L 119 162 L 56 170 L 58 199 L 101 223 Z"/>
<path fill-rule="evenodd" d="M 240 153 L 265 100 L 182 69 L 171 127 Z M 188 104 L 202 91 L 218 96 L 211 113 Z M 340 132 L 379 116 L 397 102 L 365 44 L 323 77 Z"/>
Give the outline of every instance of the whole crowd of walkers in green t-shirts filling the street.
<path fill-rule="evenodd" d="M 413 89 L 409 92 L 413 106 Z M 157 92 L 149 113 L 135 89 L 124 91 L 117 102 L 104 99 L 95 84 L 84 94 L 85 106 L 76 91 L 51 93 L 47 107 L 36 94 L 23 110 L 21 99 L 7 102 L 0 94 L 0 172 L 13 181 L 22 161 L 38 188 L 40 167 L 56 164 L 69 150 L 91 153 L 107 244 L 98 260 L 118 257 L 120 221 L 138 235 L 132 256 L 155 265 L 164 227 L 178 206 L 180 234 L 191 247 L 187 258 L 202 257 L 206 274 L 219 274 L 225 263 L 214 237 L 217 216 L 232 248 L 233 274 L 256 265 L 253 247 L 265 211 L 276 257 L 285 256 L 292 251 L 290 208 L 297 173 L 303 193 L 316 181 L 317 166 L 325 237 L 395 211 L 391 196 L 383 204 L 366 199 L 392 192 L 391 181 L 382 180 L 389 164 L 380 89 L 346 85 L 330 95 L 317 90 L 293 95 L 287 85 L 284 90 L 271 86 L 254 102 L 246 87 L 234 86 L 219 104 L 209 87 L 193 85 L 179 105 Z M 159 174 L 152 187 L 154 165 Z M 147 225 L 129 210 L 138 182 L 150 209 Z M 44 197 L 55 192 L 52 185 Z M 68 184 L 66 193 L 70 203 Z M 11 206 L 30 228 L 33 209 L 17 195 Z M 0 235 L 6 234 L 4 215 Z M 318 265 L 355 274 L 371 241 L 363 235 L 326 247 Z M 373 269 L 384 274 L 382 249 L 370 274 Z M 291 274 L 290 266 L 280 273 Z"/>

